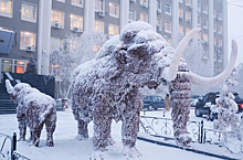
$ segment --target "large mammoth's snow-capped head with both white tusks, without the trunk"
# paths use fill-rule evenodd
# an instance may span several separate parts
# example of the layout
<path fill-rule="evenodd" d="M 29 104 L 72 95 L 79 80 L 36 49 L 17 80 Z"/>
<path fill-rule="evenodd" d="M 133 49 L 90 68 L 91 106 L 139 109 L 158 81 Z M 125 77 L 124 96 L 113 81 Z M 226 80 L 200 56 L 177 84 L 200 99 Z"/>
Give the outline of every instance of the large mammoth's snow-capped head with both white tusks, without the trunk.
<path fill-rule="evenodd" d="M 192 39 L 193 35 L 201 29 L 196 28 L 191 30 L 178 44 L 177 49 L 173 49 L 167 41 L 156 32 L 156 30 L 148 23 L 142 21 L 131 22 L 124 26 L 119 35 L 119 44 L 116 45 L 115 54 L 126 55 L 125 61 L 137 60 L 140 62 L 140 66 L 144 65 L 148 70 L 156 70 L 154 72 L 157 77 L 166 81 L 173 81 L 178 73 L 179 63 L 184 49 Z M 226 70 L 216 77 L 201 77 L 192 72 L 188 72 L 191 76 L 191 82 L 198 85 L 216 85 L 224 81 L 232 72 L 236 55 L 237 47 L 235 41 L 232 42 L 231 61 Z M 123 60 L 124 63 L 124 60 Z M 147 65 L 145 65 L 147 64 Z M 145 70 L 145 68 L 142 68 Z M 158 73 L 159 72 L 159 73 Z"/>

